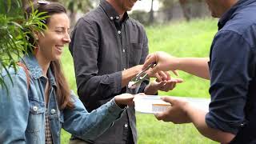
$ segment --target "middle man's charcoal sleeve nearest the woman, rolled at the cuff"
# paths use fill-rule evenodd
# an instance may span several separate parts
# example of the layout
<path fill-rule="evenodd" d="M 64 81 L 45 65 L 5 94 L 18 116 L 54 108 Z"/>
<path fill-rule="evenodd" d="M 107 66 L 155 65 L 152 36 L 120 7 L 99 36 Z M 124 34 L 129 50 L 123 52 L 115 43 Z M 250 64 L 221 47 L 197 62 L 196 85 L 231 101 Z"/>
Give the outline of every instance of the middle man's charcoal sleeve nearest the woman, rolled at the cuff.
<path fill-rule="evenodd" d="M 122 71 L 98 75 L 99 36 L 95 23 L 81 18 L 72 34 L 70 52 L 74 59 L 74 70 L 78 95 L 98 101 L 112 98 L 122 90 Z"/>

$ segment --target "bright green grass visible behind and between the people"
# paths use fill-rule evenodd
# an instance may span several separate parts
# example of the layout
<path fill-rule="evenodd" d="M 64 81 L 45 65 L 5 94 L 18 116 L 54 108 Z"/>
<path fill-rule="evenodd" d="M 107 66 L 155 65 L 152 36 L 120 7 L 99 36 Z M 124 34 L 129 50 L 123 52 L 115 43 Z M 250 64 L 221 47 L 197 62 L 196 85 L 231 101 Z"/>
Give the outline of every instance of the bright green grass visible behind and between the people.
<path fill-rule="evenodd" d="M 191 22 L 172 22 L 162 26 L 146 27 L 150 53 L 166 51 L 176 57 L 209 57 L 210 44 L 217 32 L 217 20 L 195 19 Z M 76 91 L 73 60 L 68 49 L 62 56 L 62 65 L 72 90 Z M 210 98 L 210 82 L 179 71 L 179 78 L 185 82 L 170 92 L 160 95 Z M 138 144 L 210 144 L 217 143 L 204 138 L 192 124 L 174 125 L 159 122 L 152 114 L 136 114 Z M 68 143 L 70 134 L 62 131 L 62 143 Z"/>

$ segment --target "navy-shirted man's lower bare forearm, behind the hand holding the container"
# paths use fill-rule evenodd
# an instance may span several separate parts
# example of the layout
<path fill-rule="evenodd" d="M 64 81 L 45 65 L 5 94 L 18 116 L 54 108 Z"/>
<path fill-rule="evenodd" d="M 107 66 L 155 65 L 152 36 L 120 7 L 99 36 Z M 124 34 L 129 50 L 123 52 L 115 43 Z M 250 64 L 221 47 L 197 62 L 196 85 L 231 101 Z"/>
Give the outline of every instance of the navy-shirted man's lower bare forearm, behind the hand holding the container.
<path fill-rule="evenodd" d="M 190 104 L 186 105 L 186 114 L 198 131 L 207 138 L 221 143 L 228 143 L 234 138 L 234 134 L 213 129 L 206 124 L 206 111 L 200 110 Z"/>

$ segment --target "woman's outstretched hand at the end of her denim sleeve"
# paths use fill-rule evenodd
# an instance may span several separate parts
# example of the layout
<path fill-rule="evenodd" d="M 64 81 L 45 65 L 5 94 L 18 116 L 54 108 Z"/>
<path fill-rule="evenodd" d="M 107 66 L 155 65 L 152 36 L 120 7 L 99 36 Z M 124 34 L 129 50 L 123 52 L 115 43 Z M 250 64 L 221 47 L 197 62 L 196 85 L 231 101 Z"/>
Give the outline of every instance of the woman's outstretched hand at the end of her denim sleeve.
<path fill-rule="evenodd" d="M 132 106 L 134 105 L 134 95 L 133 94 L 120 94 L 114 97 L 114 102 L 119 107 Z"/>

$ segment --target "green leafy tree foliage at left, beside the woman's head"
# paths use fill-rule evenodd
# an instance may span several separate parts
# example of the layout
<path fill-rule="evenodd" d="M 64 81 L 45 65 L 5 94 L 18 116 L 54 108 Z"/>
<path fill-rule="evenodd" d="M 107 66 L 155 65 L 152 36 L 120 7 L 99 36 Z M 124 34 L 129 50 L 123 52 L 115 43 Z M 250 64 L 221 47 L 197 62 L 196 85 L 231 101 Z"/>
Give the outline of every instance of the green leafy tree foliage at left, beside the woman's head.
<path fill-rule="evenodd" d="M 6 87 L 2 71 L 6 70 L 7 77 L 10 78 L 7 69 L 14 67 L 17 70 L 18 60 L 33 48 L 28 35 L 33 36 L 35 31 L 42 32 L 46 29 L 42 22 L 46 17 L 40 18 L 42 14 L 33 10 L 26 19 L 21 0 L 0 2 L 0 86 Z"/>

